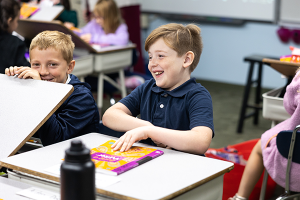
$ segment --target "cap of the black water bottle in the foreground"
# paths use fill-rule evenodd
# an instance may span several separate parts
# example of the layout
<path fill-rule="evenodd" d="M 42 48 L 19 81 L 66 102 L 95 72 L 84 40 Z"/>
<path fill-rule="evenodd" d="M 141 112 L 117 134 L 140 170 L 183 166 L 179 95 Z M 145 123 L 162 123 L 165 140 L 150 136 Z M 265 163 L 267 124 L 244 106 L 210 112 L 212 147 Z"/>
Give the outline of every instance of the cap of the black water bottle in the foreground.
<path fill-rule="evenodd" d="M 88 161 L 90 160 L 89 149 L 80 140 L 73 140 L 70 148 L 65 150 L 64 160 L 68 162 Z"/>

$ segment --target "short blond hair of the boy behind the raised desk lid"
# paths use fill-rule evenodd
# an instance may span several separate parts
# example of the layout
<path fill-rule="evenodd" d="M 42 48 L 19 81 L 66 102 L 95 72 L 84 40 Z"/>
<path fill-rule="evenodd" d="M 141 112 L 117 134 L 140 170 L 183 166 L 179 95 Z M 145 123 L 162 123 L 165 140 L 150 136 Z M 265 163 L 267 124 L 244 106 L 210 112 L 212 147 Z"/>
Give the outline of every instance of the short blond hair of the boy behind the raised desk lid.
<path fill-rule="evenodd" d="M 69 63 L 73 59 L 73 50 L 75 45 L 72 41 L 71 35 L 64 34 L 57 30 L 45 30 L 38 33 L 32 39 L 29 47 L 29 55 L 30 51 L 35 47 L 39 50 L 47 48 L 59 50 L 62 53 L 63 59 Z"/>

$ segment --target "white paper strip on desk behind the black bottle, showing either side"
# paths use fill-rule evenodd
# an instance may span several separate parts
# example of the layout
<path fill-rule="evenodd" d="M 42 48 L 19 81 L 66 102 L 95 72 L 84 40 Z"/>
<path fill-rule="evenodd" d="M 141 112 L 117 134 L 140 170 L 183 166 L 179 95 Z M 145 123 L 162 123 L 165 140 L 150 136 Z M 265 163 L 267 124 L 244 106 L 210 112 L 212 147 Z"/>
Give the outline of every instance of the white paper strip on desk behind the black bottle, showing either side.
<path fill-rule="evenodd" d="M 56 164 L 54 166 L 50 166 L 46 169 L 44 169 L 44 171 L 56 174 L 56 175 L 60 175 L 60 165 Z M 107 175 L 107 174 L 103 174 L 103 173 L 95 173 L 95 184 L 97 188 L 104 188 L 107 187 L 109 185 L 112 185 L 118 181 L 120 181 L 121 178 L 116 177 L 116 176 L 112 176 L 112 175 Z"/>

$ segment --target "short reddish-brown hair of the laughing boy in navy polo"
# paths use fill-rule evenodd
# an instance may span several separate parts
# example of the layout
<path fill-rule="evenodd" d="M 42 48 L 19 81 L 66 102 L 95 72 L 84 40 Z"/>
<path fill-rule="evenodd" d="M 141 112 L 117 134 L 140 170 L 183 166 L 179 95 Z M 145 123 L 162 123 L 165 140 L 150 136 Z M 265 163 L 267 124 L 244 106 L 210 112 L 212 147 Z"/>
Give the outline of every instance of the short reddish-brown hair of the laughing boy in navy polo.
<path fill-rule="evenodd" d="M 161 25 L 149 34 L 145 41 L 145 50 L 162 38 L 165 44 L 175 50 L 178 56 L 182 56 L 187 51 L 192 51 L 195 55 L 189 70 L 192 72 L 200 59 L 203 48 L 201 29 L 195 24 L 182 25 L 180 23 L 169 23 Z"/>

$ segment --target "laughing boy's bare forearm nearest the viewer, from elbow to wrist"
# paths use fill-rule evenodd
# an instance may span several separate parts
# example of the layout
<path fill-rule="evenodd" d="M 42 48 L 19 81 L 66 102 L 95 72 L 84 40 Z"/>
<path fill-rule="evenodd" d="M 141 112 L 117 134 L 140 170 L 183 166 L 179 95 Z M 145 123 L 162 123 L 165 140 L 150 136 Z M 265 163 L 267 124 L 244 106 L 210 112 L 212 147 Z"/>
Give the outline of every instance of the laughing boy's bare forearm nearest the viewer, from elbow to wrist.
<path fill-rule="evenodd" d="M 173 130 L 162 127 L 145 127 L 153 140 L 180 151 L 203 154 L 208 149 L 212 130 L 206 126 L 198 126 L 192 130 Z"/>

